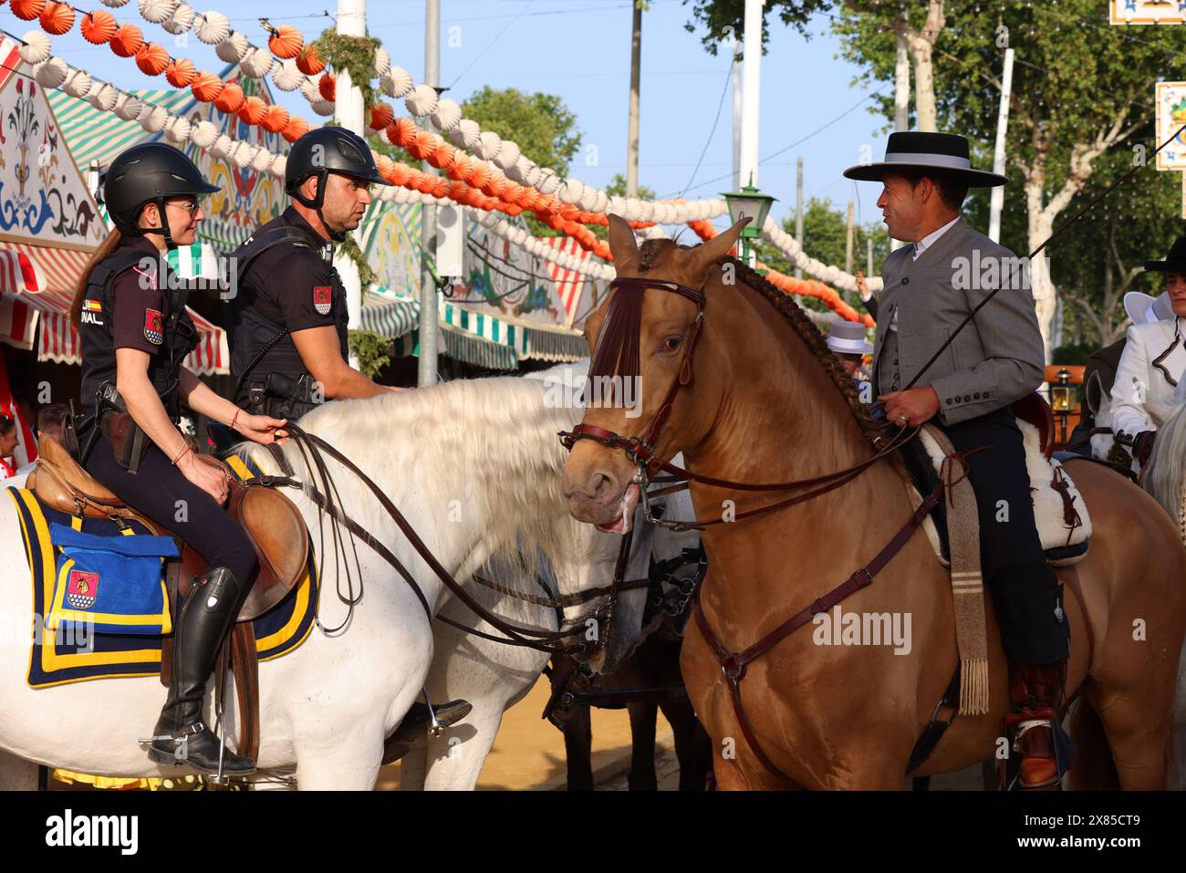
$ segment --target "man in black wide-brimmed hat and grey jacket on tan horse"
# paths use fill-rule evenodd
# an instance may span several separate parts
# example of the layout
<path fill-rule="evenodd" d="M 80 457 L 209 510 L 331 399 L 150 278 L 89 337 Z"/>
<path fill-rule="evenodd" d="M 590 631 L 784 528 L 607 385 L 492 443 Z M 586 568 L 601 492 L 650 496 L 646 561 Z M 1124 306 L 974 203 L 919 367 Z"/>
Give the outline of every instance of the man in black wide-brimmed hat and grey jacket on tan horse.
<path fill-rule="evenodd" d="M 887 423 L 933 420 L 957 452 L 989 447 L 969 454 L 968 476 L 976 491 L 984 582 L 1009 659 L 1015 712 L 1005 726 L 1013 728 L 1021 758 L 1016 784 L 1056 786 L 1065 764 L 1056 732 L 1070 635 L 1061 590 L 1034 524 L 1025 448 L 1009 408 L 1042 383 L 1042 339 L 1027 274 L 1018 275 L 1019 259 L 961 217 L 969 187 L 1007 179 L 973 168 L 963 136 L 917 132 L 891 134 L 884 161 L 849 167 L 844 176 L 884 185 L 878 206 L 890 236 L 911 243 L 881 267 L 873 380 Z M 1002 282 L 1008 285 L 956 333 Z"/>

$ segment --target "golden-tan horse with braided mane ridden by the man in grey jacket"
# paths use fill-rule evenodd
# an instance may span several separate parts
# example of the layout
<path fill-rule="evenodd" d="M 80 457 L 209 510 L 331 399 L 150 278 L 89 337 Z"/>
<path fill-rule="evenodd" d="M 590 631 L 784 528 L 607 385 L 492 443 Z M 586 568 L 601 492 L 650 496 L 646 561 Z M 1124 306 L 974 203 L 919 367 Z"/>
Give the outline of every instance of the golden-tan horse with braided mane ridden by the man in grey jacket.
<path fill-rule="evenodd" d="M 581 435 L 600 440 L 576 440 L 565 466 L 575 517 L 612 528 L 632 511 L 642 477 L 624 447 L 644 461 L 650 451 L 661 459 L 682 451 L 693 476 L 752 484 L 815 479 L 876 454 L 872 440 L 881 428 L 811 323 L 757 273 L 733 259 L 721 261 L 741 227 L 691 249 L 668 240 L 639 248 L 626 222 L 611 216 L 618 281 L 639 279 L 617 287 L 586 332 L 597 350 L 605 326 L 616 326 L 624 342 L 607 343 L 608 371 L 614 359 L 625 359 L 618 369 L 629 375 L 636 362 L 642 410 L 631 416 L 621 403 L 586 410 L 584 426 L 600 429 Z M 631 304 L 640 308 L 631 312 Z M 600 372 L 594 355 L 593 377 Z M 646 438 L 652 445 L 640 445 Z M 1091 508 L 1095 534 L 1076 568 L 1083 603 L 1070 593 L 1072 586 L 1065 598 L 1073 641 L 1067 689 L 1082 690 L 1079 713 L 1098 718 L 1102 727 L 1091 732 L 1097 741 L 1080 743 L 1072 783 L 1083 782 L 1080 772 L 1103 770 L 1078 765 L 1109 764 L 1110 751 L 1121 786 L 1158 789 L 1171 763 L 1186 550 L 1175 525 L 1142 490 L 1095 464 L 1069 467 Z M 910 536 L 875 579 L 856 573 L 908 529 L 910 485 L 900 464 L 886 458 L 831 483 L 839 486 L 816 489 L 814 499 L 753 516 L 745 512 L 784 503 L 788 491 L 806 491 L 754 495 L 693 483 L 697 518 L 734 520 L 703 528 L 704 626 L 728 652 L 742 652 L 852 578 L 861 584 L 850 586 L 855 593 L 842 601 L 843 611 L 908 613 L 912 645 L 908 652 L 816 645 L 812 629 L 799 629 L 744 669 L 735 658 L 722 668 L 693 622 L 681 665 L 696 714 L 725 752 L 716 767 L 721 788 L 900 789 L 911 748 L 955 670 L 951 581 L 926 537 Z M 956 718 L 914 776 L 959 770 L 995 750 L 1010 705 L 986 601 L 989 712 Z"/>

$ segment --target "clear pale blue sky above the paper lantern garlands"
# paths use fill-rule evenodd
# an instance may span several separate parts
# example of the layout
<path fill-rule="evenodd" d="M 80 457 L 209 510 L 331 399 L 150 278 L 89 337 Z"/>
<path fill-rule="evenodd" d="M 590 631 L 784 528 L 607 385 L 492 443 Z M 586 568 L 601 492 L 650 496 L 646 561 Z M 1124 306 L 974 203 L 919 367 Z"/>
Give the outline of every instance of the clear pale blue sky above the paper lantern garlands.
<path fill-rule="evenodd" d="M 199 12 L 213 8 L 230 15 L 231 26 L 256 45 L 266 39 L 257 21 L 261 15 L 296 25 L 312 39 L 331 24 L 320 13 L 336 9 L 333 0 L 196 0 L 192 5 Z M 458 101 L 486 84 L 560 95 L 576 114 L 584 134 L 572 173 L 604 186 L 614 173 L 625 172 L 630 9 L 630 0 L 441 0 L 441 83 L 452 87 L 449 96 Z M 192 32 L 187 46 L 174 46 L 170 33 L 140 18 L 135 0 L 114 14 L 121 23 L 140 26 L 146 38 L 171 53 L 192 58 L 199 69 L 224 66 L 213 46 Z M 689 181 L 689 198 L 715 196 L 729 187 L 728 178 L 719 178 L 732 172 L 732 90 L 721 104 L 728 51 L 716 57 L 703 51 L 702 33 L 683 27 L 690 19 L 691 7 L 682 0 L 651 0 L 643 15 L 639 178 L 659 196 L 676 196 Z M 421 0 L 368 4 L 371 34 L 383 40 L 393 63 L 408 69 L 417 82 L 425 72 L 423 20 Z M 0 23 L 17 36 L 32 24 L 14 18 L 7 5 L 0 7 Z M 860 160 L 861 145 L 868 144 L 874 157 L 885 147 L 885 134 L 879 133 L 885 120 L 869 114 L 869 102 L 861 102 L 865 90 L 850 87 L 856 68 L 835 57 L 837 43 L 824 18 L 817 19 L 810 40 L 774 17 L 770 27 L 761 70 L 759 183 L 778 198 L 773 215 L 792 214 L 795 158 L 803 155 L 808 197 L 829 197 L 840 206 L 855 197 L 859 221 L 879 221 L 875 186 L 857 187 L 841 176 Z M 120 87 L 167 87 L 164 77 L 145 76 L 133 60 L 116 57 L 108 46 L 87 43 L 77 25 L 52 40 L 55 53 L 66 62 Z M 273 93 L 289 110 L 317 117 L 299 91 Z M 713 132 L 718 107 L 720 119 Z M 403 114 L 402 104 L 395 108 Z M 774 154 L 833 121 L 802 145 Z M 586 164 L 589 146 L 597 148 L 592 166 Z M 693 179 L 702 149 L 703 161 Z"/>

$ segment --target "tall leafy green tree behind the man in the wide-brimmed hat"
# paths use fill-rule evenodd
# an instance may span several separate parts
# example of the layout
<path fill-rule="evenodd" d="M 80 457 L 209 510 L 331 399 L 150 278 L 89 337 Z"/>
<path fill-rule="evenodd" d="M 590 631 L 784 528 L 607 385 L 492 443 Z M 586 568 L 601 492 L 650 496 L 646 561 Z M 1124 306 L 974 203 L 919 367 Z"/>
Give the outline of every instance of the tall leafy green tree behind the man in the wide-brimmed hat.
<path fill-rule="evenodd" d="M 740 8 L 741 0 L 696 0 L 694 15 L 715 27 L 709 37 L 720 40 L 726 36 L 725 26 L 738 26 Z M 1003 52 L 1015 49 L 1006 146 L 1013 186 L 1006 190 L 1002 242 L 1019 254 L 1037 248 L 1071 215 L 1072 202 L 1093 178 L 1110 181 L 1122 167 L 1146 160 L 1160 145 L 1137 140 L 1136 134 L 1148 127 L 1155 81 L 1167 75 L 1178 56 L 1177 34 L 1171 33 L 1173 28 L 1129 32 L 1111 27 L 1095 0 L 976 0 L 959 5 L 942 0 L 914 5 L 900 0 L 785 0 L 766 8 L 767 13 L 778 9 L 785 21 L 801 30 L 817 12 L 834 14 L 843 57 L 863 70 L 854 84 L 866 87 L 893 82 L 905 17 L 912 32 L 925 32 L 931 39 L 933 93 L 920 94 L 927 82 L 919 81 L 916 58 L 916 108 L 920 111 L 925 100 L 933 97 L 938 129 L 968 136 L 981 157 L 990 154 L 996 135 Z M 875 110 L 892 117 L 892 91 L 880 96 Z M 859 146 L 854 144 L 854 158 Z M 1153 171 L 1142 173 L 1129 184 L 1153 184 Z M 1165 219 L 1175 215 L 1167 214 Z M 1046 254 L 1058 261 L 1063 244 L 1060 238 Z M 1042 261 L 1033 265 L 1031 280 L 1050 349 L 1056 287 Z"/>

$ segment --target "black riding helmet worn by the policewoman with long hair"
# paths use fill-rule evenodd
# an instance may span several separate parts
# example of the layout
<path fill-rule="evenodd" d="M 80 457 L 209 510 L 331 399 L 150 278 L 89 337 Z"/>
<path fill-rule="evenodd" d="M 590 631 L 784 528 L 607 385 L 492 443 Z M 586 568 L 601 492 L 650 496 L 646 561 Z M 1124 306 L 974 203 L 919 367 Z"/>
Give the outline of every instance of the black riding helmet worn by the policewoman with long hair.
<path fill-rule="evenodd" d="M 121 152 L 107 170 L 103 200 L 115 227 L 132 236 L 161 234 L 165 244 L 173 249 L 173 235 L 165 218 L 165 200 L 189 195 L 212 195 L 221 191 L 202 178 L 193 161 L 183 152 L 164 142 L 144 142 Z M 162 227 L 141 228 L 136 216 L 146 203 L 155 203 Z"/>

